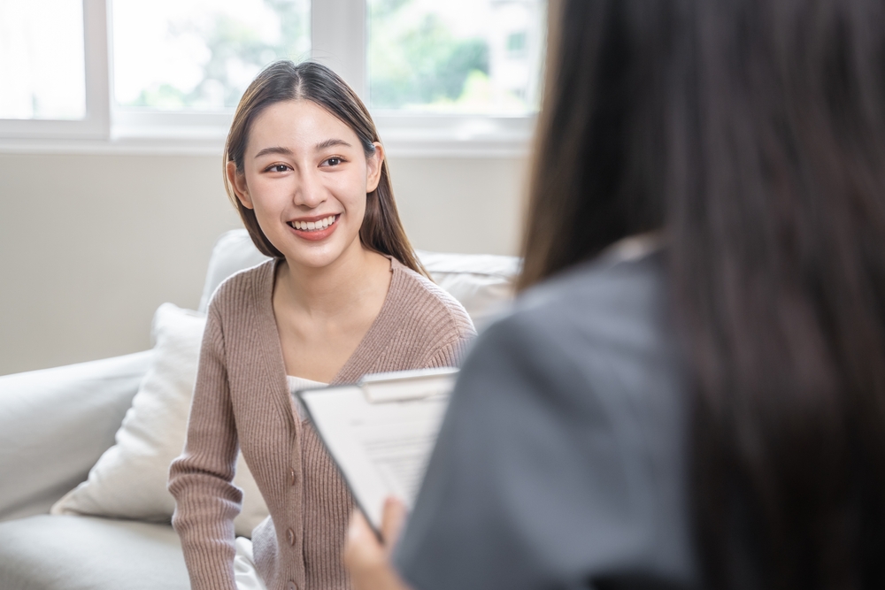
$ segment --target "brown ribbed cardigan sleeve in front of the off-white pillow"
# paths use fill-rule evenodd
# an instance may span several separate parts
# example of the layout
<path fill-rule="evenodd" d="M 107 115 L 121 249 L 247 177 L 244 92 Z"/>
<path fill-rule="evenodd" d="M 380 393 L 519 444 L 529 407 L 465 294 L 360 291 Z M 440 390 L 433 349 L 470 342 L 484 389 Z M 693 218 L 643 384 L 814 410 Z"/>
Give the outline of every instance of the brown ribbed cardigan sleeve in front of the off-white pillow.
<path fill-rule="evenodd" d="M 184 452 L 173 461 L 169 491 L 194 590 L 235 590 L 234 517 L 242 491 L 232 483 L 238 451 L 224 336 L 212 307 L 200 350 Z"/>

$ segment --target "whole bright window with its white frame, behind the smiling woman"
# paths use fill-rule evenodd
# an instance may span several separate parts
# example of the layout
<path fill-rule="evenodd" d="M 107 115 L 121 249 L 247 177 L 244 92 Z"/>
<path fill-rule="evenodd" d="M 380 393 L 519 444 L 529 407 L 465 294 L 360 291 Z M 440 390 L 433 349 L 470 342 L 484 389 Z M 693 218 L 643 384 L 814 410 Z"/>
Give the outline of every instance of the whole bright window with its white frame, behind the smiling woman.
<path fill-rule="evenodd" d="M 6 149 L 218 153 L 243 90 L 279 58 L 340 73 L 392 153 L 520 153 L 539 102 L 545 0 L 34 5 L 0 0 Z"/>

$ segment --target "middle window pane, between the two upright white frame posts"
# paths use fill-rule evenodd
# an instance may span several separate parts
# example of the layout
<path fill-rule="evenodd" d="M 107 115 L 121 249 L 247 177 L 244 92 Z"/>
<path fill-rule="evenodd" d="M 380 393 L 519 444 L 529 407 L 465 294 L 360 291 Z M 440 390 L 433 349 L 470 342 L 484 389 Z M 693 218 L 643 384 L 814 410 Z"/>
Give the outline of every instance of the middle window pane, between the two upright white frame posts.
<path fill-rule="evenodd" d="M 112 14 L 120 110 L 229 111 L 264 65 L 310 55 L 306 0 L 112 0 Z"/>

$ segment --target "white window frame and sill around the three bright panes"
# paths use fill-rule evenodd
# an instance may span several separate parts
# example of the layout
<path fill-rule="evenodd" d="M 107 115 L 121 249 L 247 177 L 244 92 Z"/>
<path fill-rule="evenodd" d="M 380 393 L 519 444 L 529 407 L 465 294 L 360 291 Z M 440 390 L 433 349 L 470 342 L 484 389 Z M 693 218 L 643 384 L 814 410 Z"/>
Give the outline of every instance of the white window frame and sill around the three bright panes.
<path fill-rule="evenodd" d="M 85 119 L 0 119 L 0 151 L 220 155 L 233 115 L 116 107 L 112 101 L 111 0 L 82 0 Z M 312 59 L 366 99 L 366 1 L 313 0 Z M 519 157 L 535 113 L 513 116 L 372 112 L 388 153 L 405 157 Z"/>

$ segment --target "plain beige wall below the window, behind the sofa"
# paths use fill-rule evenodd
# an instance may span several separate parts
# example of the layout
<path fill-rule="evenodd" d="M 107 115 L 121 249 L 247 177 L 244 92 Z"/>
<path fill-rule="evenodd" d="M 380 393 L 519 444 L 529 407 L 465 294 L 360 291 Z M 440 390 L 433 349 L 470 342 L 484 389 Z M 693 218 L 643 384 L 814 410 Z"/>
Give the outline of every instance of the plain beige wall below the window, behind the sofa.
<path fill-rule="evenodd" d="M 525 163 L 391 158 L 419 249 L 513 254 Z M 0 375 L 150 348 L 239 226 L 217 157 L 0 154 Z"/>

